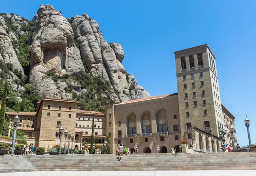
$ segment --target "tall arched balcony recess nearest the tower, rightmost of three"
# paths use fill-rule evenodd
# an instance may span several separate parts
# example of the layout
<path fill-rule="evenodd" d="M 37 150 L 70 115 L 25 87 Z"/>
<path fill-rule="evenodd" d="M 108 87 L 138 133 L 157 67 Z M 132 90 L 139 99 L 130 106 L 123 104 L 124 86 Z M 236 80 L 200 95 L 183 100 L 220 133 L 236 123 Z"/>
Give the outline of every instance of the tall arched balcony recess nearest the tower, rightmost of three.
<path fill-rule="evenodd" d="M 161 108 L 156 111 L 156 124 L 157 124 L 157 132 L 166 132 L 167 128 L 167 111 L 164 108 Z"/>

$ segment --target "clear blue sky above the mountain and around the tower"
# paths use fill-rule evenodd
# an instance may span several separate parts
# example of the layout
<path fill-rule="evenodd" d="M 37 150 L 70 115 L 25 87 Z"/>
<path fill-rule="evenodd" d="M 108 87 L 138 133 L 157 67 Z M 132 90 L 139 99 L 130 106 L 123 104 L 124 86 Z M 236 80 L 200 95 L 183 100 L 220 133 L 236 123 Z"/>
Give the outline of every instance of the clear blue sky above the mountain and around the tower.
<path fill-rule="evenodd" d="M 40 4 L 68 17 L 88 14 L 108 42 L 125 51 L 122 62 L 151 96 L 177 92 L 175 51 L 208 43 L 216 57 L 221 103 L 236 117 L 240 146 L 249 144 L 244 115 L 256 143 L 256 1 L 235 0 L 12 0 L 0 12 L 28 20 Z"/>

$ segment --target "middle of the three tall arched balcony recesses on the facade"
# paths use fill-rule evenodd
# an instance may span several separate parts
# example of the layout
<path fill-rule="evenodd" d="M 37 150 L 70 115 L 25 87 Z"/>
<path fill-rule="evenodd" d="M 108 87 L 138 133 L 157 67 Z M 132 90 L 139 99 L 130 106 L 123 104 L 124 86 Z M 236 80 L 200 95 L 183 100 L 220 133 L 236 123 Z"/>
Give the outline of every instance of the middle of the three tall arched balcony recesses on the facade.
<path fill-rule="evenodd" d="M 151 113 L 148 110 L 143 111 L 140 119 L 141 133 L 152 133 Z"/>

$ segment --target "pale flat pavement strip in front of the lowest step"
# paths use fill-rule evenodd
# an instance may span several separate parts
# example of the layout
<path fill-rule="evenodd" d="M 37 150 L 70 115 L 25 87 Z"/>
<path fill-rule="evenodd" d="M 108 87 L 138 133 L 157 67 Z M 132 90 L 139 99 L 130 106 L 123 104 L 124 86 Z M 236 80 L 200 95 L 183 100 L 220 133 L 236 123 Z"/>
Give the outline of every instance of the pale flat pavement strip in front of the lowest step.
<path fill-rule="evenodd" d="M 157 170 L 157 171 L 78 171 L 78 172 L 16 172 L 1 176 L 255 176 L 256 170 Z"/>

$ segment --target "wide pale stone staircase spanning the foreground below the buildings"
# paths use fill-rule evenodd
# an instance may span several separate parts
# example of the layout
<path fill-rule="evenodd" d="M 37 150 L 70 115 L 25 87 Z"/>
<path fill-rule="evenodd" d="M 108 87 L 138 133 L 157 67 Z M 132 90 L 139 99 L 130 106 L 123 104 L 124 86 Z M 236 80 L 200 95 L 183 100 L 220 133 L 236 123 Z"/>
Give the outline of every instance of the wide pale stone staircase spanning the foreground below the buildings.
<path fill-rule="evenodd" d="M 256 170 L 256 152 L 0 157 L 0 173 L 89 170 Z"/>

